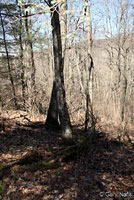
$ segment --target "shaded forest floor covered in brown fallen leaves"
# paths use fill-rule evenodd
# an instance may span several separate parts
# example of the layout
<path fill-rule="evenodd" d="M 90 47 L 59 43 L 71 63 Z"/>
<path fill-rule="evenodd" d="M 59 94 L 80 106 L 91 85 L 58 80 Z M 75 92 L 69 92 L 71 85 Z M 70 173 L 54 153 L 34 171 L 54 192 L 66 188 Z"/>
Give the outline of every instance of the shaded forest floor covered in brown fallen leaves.
<path fill-rule="evenodd" d="M 0 179 L 0 199 L 134 199 L 134 144 L 118 142 L 116 131 L 111 128 L 105 133 L 106 128 L 98 130 L 101 137 L 81 155 L 56 169 L 5 173 Z M 85 135 L 77 124 L 73 132 L 75 141 Z M 46 160 L 63 148 L 60 131 L 47 131 L 43 121 L 31 121 L 21 112 L 1 113 L 0 163 L 10 163 L 33 150 Z"/>

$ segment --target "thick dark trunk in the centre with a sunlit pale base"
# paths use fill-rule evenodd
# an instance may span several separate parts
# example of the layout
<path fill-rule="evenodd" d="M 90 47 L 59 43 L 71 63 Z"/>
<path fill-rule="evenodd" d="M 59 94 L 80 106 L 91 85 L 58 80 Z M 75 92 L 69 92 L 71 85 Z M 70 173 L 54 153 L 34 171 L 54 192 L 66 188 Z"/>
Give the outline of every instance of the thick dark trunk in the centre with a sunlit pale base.
<path fill-rule="evenodd" d="M 51 25 L 53 27 L 53 52 L 54 52 L 54 69 L 55 69 L 55 83 L 57 89 L 57 101 L 60 125 L 62 135 L 65 139 L 72 139 L 72 130 L 70 118 L 67 109 L 65 87 L 64 87 L 64 58 L 62 58 L 62 42 L 59 20 L 58 6 L 51 9 Z"/>

